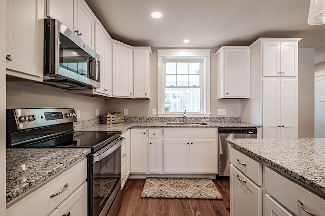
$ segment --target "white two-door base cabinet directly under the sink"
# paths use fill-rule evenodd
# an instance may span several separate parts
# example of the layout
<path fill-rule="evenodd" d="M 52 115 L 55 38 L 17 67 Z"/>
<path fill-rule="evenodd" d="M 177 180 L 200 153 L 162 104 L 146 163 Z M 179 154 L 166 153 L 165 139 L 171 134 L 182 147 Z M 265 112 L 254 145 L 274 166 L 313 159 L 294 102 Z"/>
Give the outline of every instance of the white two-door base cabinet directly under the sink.
<path fill-rule="evenodd" d="M 164 129 L 164 173 L 217 174 L 216 129 Z"/>

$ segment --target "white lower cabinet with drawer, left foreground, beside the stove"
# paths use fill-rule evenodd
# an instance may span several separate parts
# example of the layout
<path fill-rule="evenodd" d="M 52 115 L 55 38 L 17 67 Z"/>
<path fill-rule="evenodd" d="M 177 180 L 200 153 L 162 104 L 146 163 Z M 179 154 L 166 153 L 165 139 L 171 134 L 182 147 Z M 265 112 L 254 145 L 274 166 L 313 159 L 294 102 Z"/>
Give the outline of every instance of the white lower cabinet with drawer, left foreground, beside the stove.
<path fill-rule="evenodd" d="M 6 215 L 87 215 L 87 158 L 7 205 Z M 58 192 L 61 193 L 52 196 Z M 73 213 L 72 213 L 73 212 Z"/>

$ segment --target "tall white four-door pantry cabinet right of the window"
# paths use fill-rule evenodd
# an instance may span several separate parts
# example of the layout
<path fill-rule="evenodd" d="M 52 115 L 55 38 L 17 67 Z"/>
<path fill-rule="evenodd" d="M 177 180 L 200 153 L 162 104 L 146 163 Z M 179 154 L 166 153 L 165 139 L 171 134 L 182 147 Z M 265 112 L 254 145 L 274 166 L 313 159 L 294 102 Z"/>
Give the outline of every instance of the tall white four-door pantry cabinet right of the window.
<path fill-rule="evenodd" d="M 250 99 L 242 121 L 263 126 L 263 138 L 298 137 L 298 42 L 259 38 L 250 49 Z"/>

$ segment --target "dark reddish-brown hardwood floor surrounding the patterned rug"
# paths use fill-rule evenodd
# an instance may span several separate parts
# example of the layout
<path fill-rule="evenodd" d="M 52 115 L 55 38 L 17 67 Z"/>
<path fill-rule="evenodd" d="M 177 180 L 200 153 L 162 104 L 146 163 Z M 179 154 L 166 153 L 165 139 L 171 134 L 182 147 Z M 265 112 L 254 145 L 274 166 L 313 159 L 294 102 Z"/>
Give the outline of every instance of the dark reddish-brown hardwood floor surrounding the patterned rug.
<path fill-rule="evenodd" d="M 229 215 L 229 180 L 213 180 L 223 200 L 141 198 L 145 179 L 128 179 L 122 191 L 118 216 Z"/>

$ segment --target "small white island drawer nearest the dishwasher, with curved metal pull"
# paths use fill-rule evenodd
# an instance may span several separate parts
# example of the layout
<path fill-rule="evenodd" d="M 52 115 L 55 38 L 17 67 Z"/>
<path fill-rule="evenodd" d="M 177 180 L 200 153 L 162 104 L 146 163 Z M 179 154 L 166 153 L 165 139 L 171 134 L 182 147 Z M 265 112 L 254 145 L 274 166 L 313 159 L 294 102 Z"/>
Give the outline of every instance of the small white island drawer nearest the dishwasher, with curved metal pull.
<path fill-rule="evenodd" d="M 262 163 L 241 153 L 233 147 L 229 148 L 229 151 L 230 163 L 256 184 L 262 185 Z"/>

